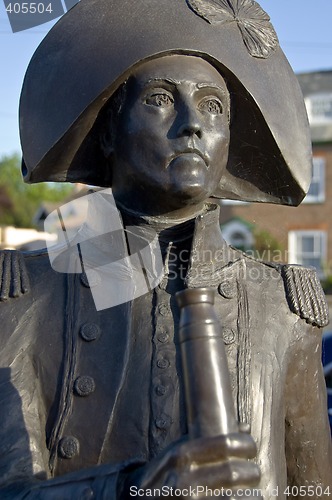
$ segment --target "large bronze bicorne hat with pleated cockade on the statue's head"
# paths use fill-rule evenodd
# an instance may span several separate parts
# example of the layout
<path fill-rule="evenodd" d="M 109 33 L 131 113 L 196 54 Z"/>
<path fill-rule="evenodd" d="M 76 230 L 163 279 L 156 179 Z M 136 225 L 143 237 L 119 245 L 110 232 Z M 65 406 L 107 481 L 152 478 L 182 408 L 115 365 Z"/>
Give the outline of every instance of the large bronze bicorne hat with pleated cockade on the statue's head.
<path fill-rule="evenodd" d="M 298 205 L 312 168 L 303 97 L 253 0 L 81 0 L 42 41 L 25 76 L 25 181 L 111 186 L 98 115 L 133 68 L 172 53 L 203 57 L 230 91 L 229 160 L 215 196 Z"/>

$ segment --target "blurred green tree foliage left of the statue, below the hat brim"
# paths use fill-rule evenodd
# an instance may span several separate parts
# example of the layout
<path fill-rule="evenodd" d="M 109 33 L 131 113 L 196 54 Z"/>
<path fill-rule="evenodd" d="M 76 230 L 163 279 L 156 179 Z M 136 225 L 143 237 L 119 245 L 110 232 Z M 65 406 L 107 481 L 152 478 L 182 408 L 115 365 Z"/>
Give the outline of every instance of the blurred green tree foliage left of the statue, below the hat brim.
<path fill-rule="evenodd" d="M 33 217 L 42 202 L 59 202 L 69 196 L 70 184 L 25 184 L 18 154 L 0 158 L 0 224 L 34 227 Z"/>

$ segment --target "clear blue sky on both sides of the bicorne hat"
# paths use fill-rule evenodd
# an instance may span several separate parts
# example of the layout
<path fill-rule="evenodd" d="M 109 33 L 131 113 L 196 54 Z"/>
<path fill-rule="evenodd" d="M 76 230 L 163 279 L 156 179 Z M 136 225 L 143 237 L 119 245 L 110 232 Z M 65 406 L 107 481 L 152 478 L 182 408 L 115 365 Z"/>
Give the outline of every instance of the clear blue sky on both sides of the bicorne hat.
<path fill-rule="evenodd" d="M 270 15 L 295 72 L 332 70 L 331 0 L 259 3 Z M 0 156 L 20 152 L 17 114 L 24 73 L 33 52 L 53 24 L 12 33 L 0 0 Z"/>

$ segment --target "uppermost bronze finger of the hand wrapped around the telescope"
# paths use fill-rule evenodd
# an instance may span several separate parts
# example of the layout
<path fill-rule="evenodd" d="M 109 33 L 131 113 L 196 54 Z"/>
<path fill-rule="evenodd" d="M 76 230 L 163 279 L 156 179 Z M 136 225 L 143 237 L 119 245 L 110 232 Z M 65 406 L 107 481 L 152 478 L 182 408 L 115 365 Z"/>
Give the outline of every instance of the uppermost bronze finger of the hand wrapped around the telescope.
<path fill-rule="evenodd" d="M 228 434 L 182 443 L 175 451 L 174 465 L 219 463 L 230 457 L 250 459 L 256 456 L 256 444 L 249 434 Z"/>

